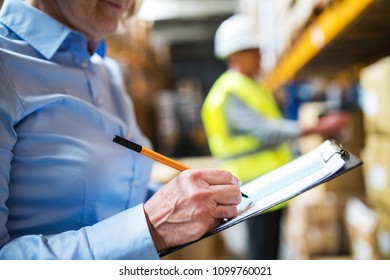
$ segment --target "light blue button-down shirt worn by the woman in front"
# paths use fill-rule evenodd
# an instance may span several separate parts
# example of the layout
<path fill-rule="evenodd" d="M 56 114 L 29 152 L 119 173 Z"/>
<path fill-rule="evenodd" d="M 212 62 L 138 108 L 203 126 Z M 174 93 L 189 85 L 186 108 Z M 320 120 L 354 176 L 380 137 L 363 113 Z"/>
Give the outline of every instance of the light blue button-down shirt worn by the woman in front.
<path fill-rule="evenodd" d="M 157 259 L 149 145 L 119 67 L 22 1 L 0 12 L 0 259 Z"/>

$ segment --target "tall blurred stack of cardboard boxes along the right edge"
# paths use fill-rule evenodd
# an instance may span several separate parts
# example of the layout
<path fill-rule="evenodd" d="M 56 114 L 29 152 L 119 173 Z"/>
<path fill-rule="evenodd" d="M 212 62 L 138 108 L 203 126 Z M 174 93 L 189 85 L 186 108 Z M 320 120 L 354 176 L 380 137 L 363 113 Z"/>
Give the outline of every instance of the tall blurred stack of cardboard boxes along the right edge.
<path fill-rule="evenodd" d="M 380 258 L 390 259 L 390 57 L 360 73 L 366 145 L 363 153 L 368 205 L 378 215 Z"/>

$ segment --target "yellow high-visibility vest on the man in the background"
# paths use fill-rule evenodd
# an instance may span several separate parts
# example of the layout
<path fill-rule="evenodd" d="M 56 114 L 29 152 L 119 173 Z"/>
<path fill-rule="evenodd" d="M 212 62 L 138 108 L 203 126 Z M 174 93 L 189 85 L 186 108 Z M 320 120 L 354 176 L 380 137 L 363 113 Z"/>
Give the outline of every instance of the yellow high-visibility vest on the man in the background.
<path fill-rule="evenodd" d="M 225 116 L 229 94 L 266 118 L 282 118 L 275 99 L 264 86 L 237 72 L 222 74 L 207 95 L 201 112 L 211 154 L 221 159 L 221 167 L 242 182 L 248 182 L 291 161 L 293 156 L 288 145 L 265 150 L 255 136 L 229 132 Z"/>

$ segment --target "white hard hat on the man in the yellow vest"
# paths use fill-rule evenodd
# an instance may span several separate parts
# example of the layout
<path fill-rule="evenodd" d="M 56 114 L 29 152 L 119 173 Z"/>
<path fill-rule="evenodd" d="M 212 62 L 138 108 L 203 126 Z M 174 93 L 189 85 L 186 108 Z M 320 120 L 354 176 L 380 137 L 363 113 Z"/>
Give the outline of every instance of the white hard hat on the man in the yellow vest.
<path fill-rule="evenodd" d="M 249 16 L 236 14 L 222 22 L 214 38 L 214 54 L 227 58 L 232 53 L 260 47 L 256 25 Z"/>

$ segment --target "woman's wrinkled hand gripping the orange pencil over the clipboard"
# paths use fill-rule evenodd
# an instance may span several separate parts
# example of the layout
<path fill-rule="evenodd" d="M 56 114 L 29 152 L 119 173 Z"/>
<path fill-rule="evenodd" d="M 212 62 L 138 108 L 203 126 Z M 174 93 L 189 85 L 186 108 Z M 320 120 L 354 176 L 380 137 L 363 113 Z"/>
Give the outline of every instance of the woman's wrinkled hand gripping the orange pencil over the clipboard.
<path fill-rule="evenodd" d="M 240 182 L 222 170 L 189 169 L 144 205 L 157 251 L 185 244 L 237 214 Z"/>

